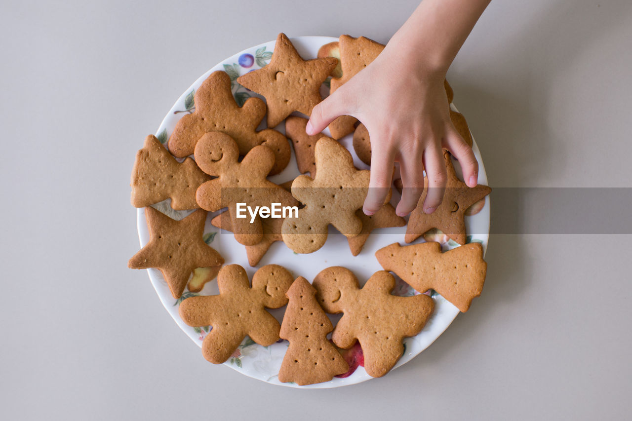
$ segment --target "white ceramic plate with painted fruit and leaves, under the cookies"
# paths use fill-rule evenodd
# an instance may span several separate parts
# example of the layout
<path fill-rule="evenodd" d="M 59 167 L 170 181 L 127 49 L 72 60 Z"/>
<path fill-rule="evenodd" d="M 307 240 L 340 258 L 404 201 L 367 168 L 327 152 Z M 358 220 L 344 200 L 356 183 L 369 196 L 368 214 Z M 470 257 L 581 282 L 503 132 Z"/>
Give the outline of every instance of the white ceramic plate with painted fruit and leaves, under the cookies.
<path fill-rule="evenodd" d="M 320 46 L 327 44 L 328 42 L 337 41 L 336 38 L 333 37 L 296 37 L 291 39 L 293 44 L 295 45 L 298 52 L 304 59 L 315 58 L 317 56 L 317 52 Z M 231 76 L 231 80 L 234 80 L 239 75 L 243 75 L 248 71 L 255 70 L 260 68 L 261 66 L 265 66 L 270 60 L 271 52 L 274 50 L 274 41 L 266 42 L 265 44 L 260 44 L 259 46 L 252 47 L 246 49 L 234 56 L 222 61 L 217 64 L 213 68 L 211 68 L 207 73 L 200 76 L 198 80 L 196 80 L 193 85 L 191 85 L 186 91 L 179 97 L 178 101 L 174 104 L 174 106 L 169 110 L 167 116 L 162 121 L 158 131 L 157 137 L 161 139 L 162 142 L 165 142 L 171 132 L 173 131 L 176 122 L 181 116 L 185 113 L 190 113 L 193 111 L 195 104 L 193 104 L 193 94 L 195 90 L 202 84 L 202 82 L 216 70 L 224 70 L 229 73 Z M 325 94 L 327 93 L 326 88 L 324 88 Z M 233 94 L 236 99 L 240 102 L 240 105 L 243 104 L 243 101 L 248 96 L 255 95 L 253 92 L 246 90 L 246 88 L 241 87 L 236 82 L 233 83 Z M 454 108 L 454 106 L 453 106 Z M 454 108 L 456 109 L 456 108 Z M 260 128 L 265 127 L 265 118 L 264 122 L 262 122 L 262 126 Z M 279 125 L 276 129 L 280 131 L 283 130 L 284 125 Z M 329 134 L 326 133 L 325 134 Z M 356 167 L 360 169 L 368 168 L 365 164 L 363 164 L 360 159 L 355 155 L 353 151 L 353 147 L 351 145 L 352 136 L 349 135 L 346 138 L 341 139 L 341 143 L 347 147 L 347 149 L 353 155 L 353 160 L 356 164 Z M 478 147 L 476 142 L 473 145 L 474 153 L 478 159 L 479 164 L 479 172 L 478 172 L 478 183 L 487 184 L 487 174 L 485 174 L 485 167 L 483 166 L 483 162 L 480 156 L 480 152 L 478 151 Z M 455 164 L 457 171 L 459 171 L 458 164 Z M 288 167 L 284 169 L 281 174 L 270 177 L 270 180 L 276 183 L 282 183 L 284 181 L 293 180 L 296 176 L 299 175 L 298 168 L 296 167 L 296 159 L 294 154 L 292 155 L 292 159 L 288 164 Z M 396 190 L 393 191 L 392 203 L 396 204 L 399 200 L 399 195 Z M 156 209 L 162 210 L 163 212 L 169 214 L 169 216 L 174 217 L 176 219 L 181 219 L 186 216 L 190 212 L 175 212 L 171 210 L 169 207 L 169 200 L 166 202 L 161 202 L 161 204 L 154 205 Z M 226 231 L 221 231 L 218 228 L 215 228 L 210 224 L 210 220 L 212 217 L 216 216 L 219 212 L 214 212 L 209 214 L 207 217 L 207 224 L 205 226 L 205 233 L 207 234 L 205 238 L 210 241 L 212 247 L 214 247 L 221 255 L 226 259 L 226 264 L 240 264 L 245 267 L 246 272 L 252 278 L 252 275 L 255 271 L 257 271 L 258 267 L 261 267 L 266 264 L 279 264 L 286 267 L 289 271 L 291 271 L 295 276 L 303 276 L 308 279 L 310 282 L 325 267 L 340 265 L 351 269 L 358 279 L 360 283 L 363 284 L 367 281 L 368 278 L 374 272 L 382 270 L 382 267 L 375 259 L 375 251 L 379 250 L 379 248 L 385 247 L 391 243 L 398 241 L 399 243 L 404 244 L 404 233 L 406 231 L 406 227 L 401 228 L 383 228 L 373 231 L 372 235 L 368 238 L 367 243 L 365 244 L 362 252 L 353 257 L 351 252 L 349 251 L 348 243 L 346 238 L 337 233 L 337 231 L 333 228 L 329 231 L 329 238 L 327 239 L 327 243 L 325 243 L 324 247 L 318 250 L 315 253 L 300 255 L 294 253 L 292 250 L 287 248 L 283 242 L 277 241 L 272 244 L 272 247 L 265 254 L 263 259 L 259 262 L 257 267 L 250 267 L 248 265 L 248 260 L 246 259 L 245 248 L 243 245 L 237 243 L 234 240 L 233 234 L 228 233 Z M 140 237 L 140 245 L 143 247 L 147 241 L 149 241 L 149 231 L 147 229 L 147 222 L 145 221 L 145 212 L 144 209 L 138 209 L 137 213 L 138 218 L 138 235 Z M 490 205 L 489 205 L 489 197 L 486 198 L 485 205 L 480 209 L 480 211 L 473 215 L 468 216 L 465 219 L 466 228 L 468 233 L 473 233 L 470 237 L 468 237 L 468 241 L 478 241 L 483 244 L 483 250 L 487 248 L 487 241 L 489 239 L 489 222 L 490 222 Z M 216 233 L 217 235 L 214 235 Z M 428 234 L 425 235 L 425 238 L 432 241 L 439 241 L 442 243 L 444 250 L 449 248 L 453 248 L 458 246 L 454 241 L 448 240 L 446 236 L 441 235 L 441 233 L 434 235 Z M 424 238 L 419 238 L 415 242 L 423 242 Z M 190 327 L 183 323 L 183 321 L 179 318 L 178 315 L 178 305 L 180 300 L 174 300 L 173 296 L 169 292 L 169 288 L 162 278 L 162 274 L 157 269 L 148 269 L 149 278 L 151 279 L 152 284 L 154 285 L 155 291 L 158 294 L 162 305 L 167 309 L 167 312 L 171 314 L 171 317 L 176 321 L 178 326 L 187 334 L 193 342 L 195 342 L 198 346 L 202 346 L 202 339 L 204 339 L 205 334 L 207 333 L 205 329 L 200 329 L 199 327 Z M 397 278 L 397 277 L 396 277 Z M 405 284 L 401 279 L 398 279 L 398 284 L 394 290 L 396 295 L 413 295 L 416 294 L 410 286 Z M 217 294 L 217 282 L 212 281 L 205 285 L 204 290 L 200 292 L 199 295 L 212 295 Z M 183 298 L 186 298 L 191 295 L 197 295 L 195 293 L 190 293 L 190 291 L 185 290 L 183 294 Z M 405 363 L 409 362 L 413 357 L 418 355 L 421 351 L 425 350 L 428 345 L 430 345 L 435 339 L 443 333 L 444 330 L 451 324 L 456 315 L 459 313 L 459 310 L 454 307 L 451 303 L 447 302 L 440 295 L 435 294 L 432 297 L 435 301 L 435 312 L 428 320 L 426 326 L 423 328 L 421 333 L 416 335 L 413 338 L 406 338 L 404 343 L 406 345 L 406 349 L 404 351 L 403 357 L 399 360 L 395 367 L 400 367 Z M 272 314 L 277 317 L 279 321 L 283 318 L 284 308 L 279 310 L 271 310 Z M 336 320 L 339 319 L 339 316 L 332 316 L 332 320 L 334 320 L 334 325 Z M 250 338 L 247 338 L 241 343 L 240 348 L 236 353 L 234 353 L 233 357 L 229 358 L 229 360 L 224 363 L 228 365 L 232 369 L 237 370 L 238 372 L 253 377 L 255 379 L 262 380 L 264 382 L 269 382 L 272 384 L 279 384 L 283 386 L 291 386 L 291 387 L 303 387 L 303 388 L 325 388 L 325 387 L 338 387 L 338 386 L 346 386 L 348 384 L 356 384 L 359 382 L 367 381 L 368 379 L 372 379 L 367 372 L 364 370 L 362 366 L 358 367 L 353 374 L 348 377 L 338 378 L 334 377 L 332 381 L 313 384 L 311 386 L 297 386 L 293 383 L 281 383 L 277 379 L 277 374 L 279 373 L 279 367 L 281 367 L 281 362 L 283 360 L 283 356 L 285 351 L 288 348 L 288 341 L 279 341 L 271 346 L 260 346 L 253 343 Z M 200 364 L 208 364 L 200 354 Z"/>

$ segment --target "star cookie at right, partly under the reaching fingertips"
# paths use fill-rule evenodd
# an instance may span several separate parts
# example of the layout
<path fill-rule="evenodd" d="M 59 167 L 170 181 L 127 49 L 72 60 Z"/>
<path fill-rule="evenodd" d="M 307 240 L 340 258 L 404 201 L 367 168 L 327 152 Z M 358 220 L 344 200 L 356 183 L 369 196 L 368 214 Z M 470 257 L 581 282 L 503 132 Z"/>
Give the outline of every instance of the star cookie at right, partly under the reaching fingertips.
<path fill-rule="evenodd" d="M 456 176 L 449 152 L 444 151 L 444 160 L 447 168 L 447 185 L 443 202 L 432 214 L 423 213 L 422 205 L 428 193 L 428 178 L 425 177 L 422 197 L 408 219 L 404 237 L 406 243 L 415 241 L 428 229 L 437 228 L 457 243 L 465 244 L 465 211 L 492 191 L 489 186 L 468 187 Z"/>

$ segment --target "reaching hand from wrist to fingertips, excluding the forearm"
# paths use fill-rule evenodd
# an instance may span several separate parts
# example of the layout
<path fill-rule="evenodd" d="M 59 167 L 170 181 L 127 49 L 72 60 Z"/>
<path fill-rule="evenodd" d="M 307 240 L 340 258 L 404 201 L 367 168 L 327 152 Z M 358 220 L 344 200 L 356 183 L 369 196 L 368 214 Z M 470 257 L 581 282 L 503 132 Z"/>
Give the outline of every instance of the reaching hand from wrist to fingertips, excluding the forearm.
<path fill-rule="evenodd" d="M 476 158 L 450 120 L 444 74 L 419 70 L 418 63 L 403 66 L 406 61 L 396 54 L 387 46 L 373 63 L 314 107 L 306 129 L 315 135 L 342 115 L 354 116 L 367 126 L 372 149 L 370 189 L 364 202 L 367 215 L 384 204 L 393 162 L 399 162 L 404 185 L 397 214 L 415 209 L 423 192 L 424 169 L 428 194 L 422 209 L 434 212 L 446 187 L 442 148 L 459 160 L 467 185 L 477 184 Z"/>

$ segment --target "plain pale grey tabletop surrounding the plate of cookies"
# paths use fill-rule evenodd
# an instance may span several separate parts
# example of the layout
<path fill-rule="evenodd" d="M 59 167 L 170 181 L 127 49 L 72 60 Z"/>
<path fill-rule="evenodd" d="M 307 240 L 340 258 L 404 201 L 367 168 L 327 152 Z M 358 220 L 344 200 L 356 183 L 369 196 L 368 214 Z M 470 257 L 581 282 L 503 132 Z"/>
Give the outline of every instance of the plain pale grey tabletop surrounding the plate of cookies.
<path fill-rule="evenodd" d="M 467 314 L 333 390 L 206 363 L 127 269 L 135 152 L 191 82 L 281 31 L 386 42 L 415 6 L 3 1 L 0 417 L 629 417 L 629 235 L 492 235 Z M 492 1 L 448 75 L 491 186 L 631 186 L 631 39 L 629 0 Z"/>

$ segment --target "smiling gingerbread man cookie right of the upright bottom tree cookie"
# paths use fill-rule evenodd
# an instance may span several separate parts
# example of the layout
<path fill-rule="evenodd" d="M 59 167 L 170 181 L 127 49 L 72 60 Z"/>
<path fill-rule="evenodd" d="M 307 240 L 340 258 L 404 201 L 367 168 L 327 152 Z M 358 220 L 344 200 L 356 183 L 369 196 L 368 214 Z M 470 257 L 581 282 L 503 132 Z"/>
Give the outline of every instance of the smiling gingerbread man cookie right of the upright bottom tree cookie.
<path fill-rule="evenodd" d="M 375 272 L 360 288 L 349 269 L 328 267 L 314 278 L 313 287 L 326 312 L 344 313 L 331 339 L 344 349 L 359 341 L 372 377 L 394 367 L 404 353 L 403 339 L 420 333 L 434 310 L 427 295 L 391 295 L 395 278 L 386 271 Z"/>

